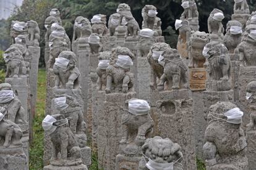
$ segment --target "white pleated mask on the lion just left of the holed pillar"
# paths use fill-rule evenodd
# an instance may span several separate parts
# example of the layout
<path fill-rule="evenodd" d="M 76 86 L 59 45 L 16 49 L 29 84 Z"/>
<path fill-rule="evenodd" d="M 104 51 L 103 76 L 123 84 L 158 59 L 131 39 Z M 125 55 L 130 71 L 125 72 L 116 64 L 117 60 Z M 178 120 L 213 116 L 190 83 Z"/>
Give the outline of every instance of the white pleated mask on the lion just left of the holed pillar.
<path fill-rule="evenodd" d="M 147 101 L 145 100 L 130 100 L 128 102 L 128 111 L 129 113 L 135 114 L 135 115 L 144 115 L 148 114 L 148 111 L 150 110 L 150 106 Z"/>

